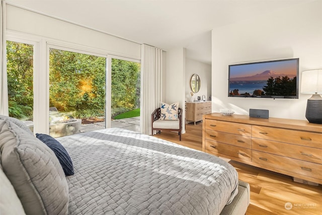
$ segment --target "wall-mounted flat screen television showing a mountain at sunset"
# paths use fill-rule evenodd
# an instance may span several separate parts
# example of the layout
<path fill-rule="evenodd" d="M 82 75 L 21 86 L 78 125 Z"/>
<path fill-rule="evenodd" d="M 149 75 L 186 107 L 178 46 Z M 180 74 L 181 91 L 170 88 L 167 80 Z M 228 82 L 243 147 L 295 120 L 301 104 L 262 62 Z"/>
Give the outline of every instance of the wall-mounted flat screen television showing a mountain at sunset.
<path fill-rule="evenodd" d="M 228 66 L 228 97 L 298 99 L 299 58 Z"/>

